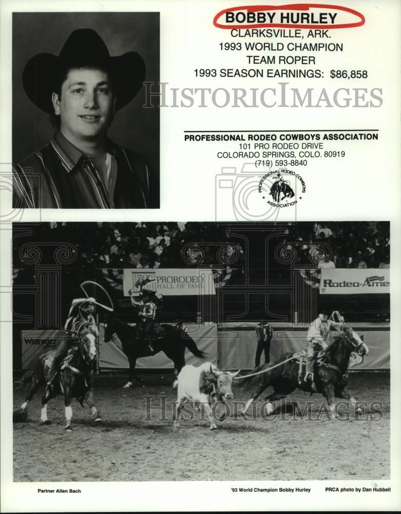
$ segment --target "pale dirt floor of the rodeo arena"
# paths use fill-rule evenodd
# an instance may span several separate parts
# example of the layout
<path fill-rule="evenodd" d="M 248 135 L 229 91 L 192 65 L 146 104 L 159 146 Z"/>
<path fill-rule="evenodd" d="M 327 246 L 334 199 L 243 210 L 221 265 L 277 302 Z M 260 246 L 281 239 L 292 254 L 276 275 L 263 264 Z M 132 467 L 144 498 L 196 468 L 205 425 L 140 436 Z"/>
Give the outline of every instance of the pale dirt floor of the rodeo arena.
<path fill-rule="evenodd" d="M 125 374 L 97 376 L 94 398 L 103 421 L 94 425 L 89 409 L 74 400 L 72 432 L 64 430 L 61 396 L 48 406 L 52 424 L 40 425 L 40 390 L 28 407 L 27 422 L 14 424 L 14 481 L 390 478 L 389 373 L 350 374 L 350 392 L 368 403 L 360 419 L 341 403 L 338 417 L 343 420 L 328 420 L 319 394 L 311 397 L 298 391 L 276 416 L 264 415 L 263 398 L 255 415 L 250 409 L 246 419 L 235 415 L 231 403 L 230 417 L 218 423 L 216 431 L 209 430 L 202 412 L 189 408 L 186 417 L 192 412 L 194 419 L 183 420 L 174 431 L 173 375 L 141 377 L 144 387 L 122 389 Z M 238 386 L 233 392 L 235 400 L 249 398 Z M 24 397 L 25 389 L 15 387 L 14 408 Z M 308 401 L 312 402 L 309 414 L 307 410 L 300 419 L 293 402 L 303 411 Z M 165 402 L 164 419 L 161 409 L 151 409 L 146 416 L 146 402 L 152 407 Z M 372 402 L 377 403 L 372 406 Z"/>

